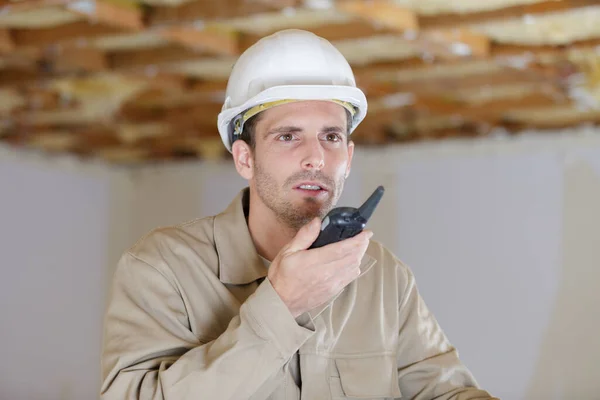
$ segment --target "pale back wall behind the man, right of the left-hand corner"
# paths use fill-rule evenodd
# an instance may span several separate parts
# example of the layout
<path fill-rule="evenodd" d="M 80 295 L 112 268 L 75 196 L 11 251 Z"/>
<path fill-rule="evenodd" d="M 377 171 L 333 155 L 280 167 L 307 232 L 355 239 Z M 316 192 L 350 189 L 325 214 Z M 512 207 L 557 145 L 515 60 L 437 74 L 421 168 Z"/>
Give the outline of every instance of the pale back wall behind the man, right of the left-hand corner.
<path fill-rule="evenodd" d="M 370 227 L 415 272 L 482 386 L 503 399 L 600 392 L 600 132 L 361 149 L 343 204 L 379 184 Z M 219 212 L 230 164 L 142 168 L 134 235 Z"/>

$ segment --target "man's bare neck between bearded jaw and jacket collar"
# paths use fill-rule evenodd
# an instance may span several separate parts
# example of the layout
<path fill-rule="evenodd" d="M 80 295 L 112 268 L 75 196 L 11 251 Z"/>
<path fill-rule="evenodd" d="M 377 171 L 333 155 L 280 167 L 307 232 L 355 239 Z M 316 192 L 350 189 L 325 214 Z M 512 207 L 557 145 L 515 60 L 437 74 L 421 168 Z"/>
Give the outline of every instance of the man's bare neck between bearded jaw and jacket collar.
<path fill-rule="evenodd" d="M 281 248 L 289 243 L 296 231 L 277 219 L 275 213 L 250 189 L 248 229 L 259 255 L 273 261 Z"/>

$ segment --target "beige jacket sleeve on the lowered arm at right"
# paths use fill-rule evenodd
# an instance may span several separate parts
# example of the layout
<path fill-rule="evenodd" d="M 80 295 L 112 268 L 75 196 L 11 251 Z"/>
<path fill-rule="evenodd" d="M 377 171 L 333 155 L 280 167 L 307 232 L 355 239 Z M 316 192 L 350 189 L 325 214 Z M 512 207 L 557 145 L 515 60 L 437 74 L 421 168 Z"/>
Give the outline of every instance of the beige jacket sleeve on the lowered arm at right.
<path fill-rule="evenodd" d="M 412 271 L 398 262 L 398 384 L 413 400 L 496 399 L 478 387 L 419 295 Z"/>

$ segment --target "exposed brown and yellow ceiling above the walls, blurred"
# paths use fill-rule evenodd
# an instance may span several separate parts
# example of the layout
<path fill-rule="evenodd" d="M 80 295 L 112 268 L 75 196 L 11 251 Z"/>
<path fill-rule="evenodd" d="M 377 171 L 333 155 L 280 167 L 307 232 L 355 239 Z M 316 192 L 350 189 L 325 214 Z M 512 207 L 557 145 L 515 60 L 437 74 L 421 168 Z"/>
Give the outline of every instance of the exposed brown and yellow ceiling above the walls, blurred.
<path fill-rule="evenodd" d="M 0 0 L 0 141 L 116 163 L 228 156 L 236 57 L 302 28 L 369 98 L 353 138 L 600 122 L 599 0 Z"/>

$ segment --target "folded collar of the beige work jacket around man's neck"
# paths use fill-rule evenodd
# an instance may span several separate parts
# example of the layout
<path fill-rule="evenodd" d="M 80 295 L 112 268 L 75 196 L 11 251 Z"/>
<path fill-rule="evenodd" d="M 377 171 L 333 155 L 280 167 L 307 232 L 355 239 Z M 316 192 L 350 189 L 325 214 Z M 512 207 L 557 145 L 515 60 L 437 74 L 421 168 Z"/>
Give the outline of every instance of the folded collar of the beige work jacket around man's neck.
<path fill-rule="evenodd" d="M 243 189 L 222 213 L 215 216 L 215 246 L 219 257 L 219 279 L 232 285 L 244 285 L 267 276 L 267 267 L 256 252 L 250 236 L 245 210 L 248 210 L 250 190 Z M 360 276 L 375 264 L 365 254 Z M 360 278 L 359 276 L 359 278 Z"/>

